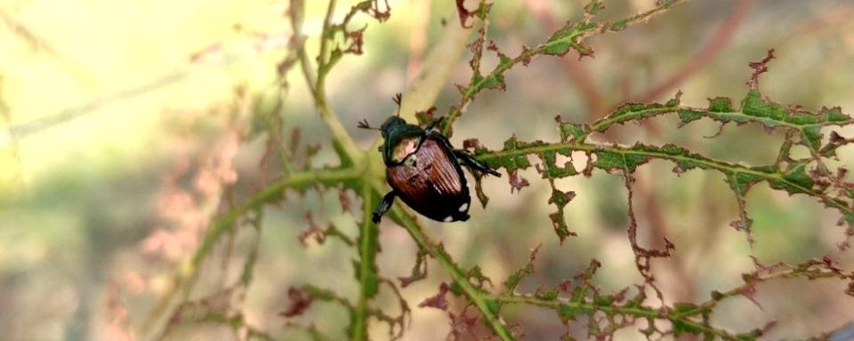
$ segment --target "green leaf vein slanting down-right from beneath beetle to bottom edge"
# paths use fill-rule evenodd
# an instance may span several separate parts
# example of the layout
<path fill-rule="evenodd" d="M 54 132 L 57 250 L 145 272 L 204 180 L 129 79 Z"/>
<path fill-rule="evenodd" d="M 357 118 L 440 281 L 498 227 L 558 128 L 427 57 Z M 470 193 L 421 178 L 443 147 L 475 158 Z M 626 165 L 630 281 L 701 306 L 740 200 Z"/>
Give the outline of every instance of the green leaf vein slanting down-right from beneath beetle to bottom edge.
<path fill-rule="evenodd" d="M 376 188 L 376 186 L 375 189 L 383 190 L 382 187 Z M 454 259 L 451 258 L 451 255 L 447 253 L 441 244 L 434 242 L 423 228 L 418 225 L 418 222 L 415 221 L 415 217 L 408 214 L 400 207 L 400 205 L 393 205 L 391 210 L 389 210 L 389 213 L 391 219 L 407 230 L 415 243 L 418 244 L 419 249 L 427 252 L 431 258 L 435 259 L 436 262 L 439 263 L 439 266 L 445 268 L 447 274 L 450 275 L 451 280 L 463 290 L 463 295 L 466 299 L 478 308 L 483 316 L 483 321 L 490 329 L 492 329 L 493 332 L 495 332 L 495 336 L 504 341 L 513 340 L 514 337 L 512 336 L 510 329 L 507 328 L 507 325 L 504 324 L 501 317 L 490 309 L 487 301 L 492 300 L 492 297 L 489 293 L 483 289 L 475 288 L 474 285 L 469 282 L 469 276 L 466 272 L 454 262 Z"/>

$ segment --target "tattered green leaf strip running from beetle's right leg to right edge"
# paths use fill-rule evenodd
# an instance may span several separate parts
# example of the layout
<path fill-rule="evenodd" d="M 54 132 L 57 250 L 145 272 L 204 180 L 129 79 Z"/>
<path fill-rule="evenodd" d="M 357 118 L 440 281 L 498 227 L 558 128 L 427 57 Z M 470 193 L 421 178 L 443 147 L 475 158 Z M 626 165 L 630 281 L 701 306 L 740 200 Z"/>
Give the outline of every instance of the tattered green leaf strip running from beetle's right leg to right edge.
<path fill-rule="evenodd" d="M 717 102 L 721 104 L 721 108 L 726 107 L 723 105 L 725 103 L 724 100 L 718 99 Z M 566 123 L 560 121 L 559 124 L 561 130 L 568 126 Z M 569 134 L 571 135 L 571 132 L 576 130 L 571 125 L 569 127 Z M 827 188 L 816 186 L 817 180 L 814 177 L 827 176 L 827 174 L 826 172 L 810 173 L 807 170 L 807 165 L 811 159 L 802 163 L 792 163 L 792 165 L 786 168 L 786 171 L 780 171 L 777 164 L 761 167 L 745 167 L 739 164 L 713 160 L 674 145 L 655 147 L 636 144 L 632 147 L 623 147 L 576 141 L 575 137 L 570 141 L 565 141 L 565 139 L 568 139 L 568 136 L 562 135 L 560 142 L 548 144 L 542 141 L 526 143 L 512 138 L 505 143 L 503 150 L 490 152 L 486 148 L 481 147 L 475 153 L 476 158 L 484 163 L 509 167 L 511 170 L 518 169 L 520 166 L 528 167 L 530 165 L 527 158 L 522 158 L 524 155 L 539 155 L 544 160 L 544 167 L 540 168 L 537 165 L 537 169 L 541 171 L 544 178 L 550 180 L 552 196 L 549 199 L 549 203 L 554 204 L 557 210 L 552 212 L 549 218 L 552 220 L 552 226 L 561 241 L 567 236 L 573 235 L 566 224 L 564 208 L 575 193 L 561 191 L 554 186 L 553 179 L 576 175 L 576 171 L 569 168 L 570 164 L 565 165 L 563 168 L 557 167 L 552 163 L 552 160 L 556 160 L 552 159 L 552 155 L 555 157 L 556 155 L 571 155 L 574 151 L 584 152 L 594 157 L 594 161 L 589 163 L 588 169 L 584 171 L 585 174 L 588 174 L 588 171 L 592 169 L 617 171 L 620 173 L 628 172 L 631 174 L 639 166 L 649 162 L 651 159 L 669 160 L 675 163 L 676 167 L 673 170 L 677 173 L 693 169 L 720 171 L 726 176 L 727 182 L 736 194 L 739 203 L 740 219 L 734 222 L 733 226 L 736 226 L 740 230 L 745 230 L 748 234 L 748 241 L 752 241 L 752 236 L 750 235 L 752 219 L 746 214 L 745 195 L 750 186 L 757 182 L 768 182 L 772 188 L 785 190 L 789 194 L 810 195 L 818 199 L 818 201 L 824 202 L 828 207 L 840 210 L 843 215 L 854 214 L 854 210 L 850 208 L 848 201 L 834 199 L 827 194 Z M 824 181 L 827 182 L 827 180 Z"/>

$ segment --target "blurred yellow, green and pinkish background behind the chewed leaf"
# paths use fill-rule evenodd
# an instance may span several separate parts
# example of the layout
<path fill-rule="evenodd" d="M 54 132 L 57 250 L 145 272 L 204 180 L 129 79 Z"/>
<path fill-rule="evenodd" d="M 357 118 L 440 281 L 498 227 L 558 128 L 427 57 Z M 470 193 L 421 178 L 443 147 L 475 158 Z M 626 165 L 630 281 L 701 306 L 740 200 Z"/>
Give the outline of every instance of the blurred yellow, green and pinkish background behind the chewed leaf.
<path fill-rule="evenodd" d="M 342 1 L 340 20 L 353 2 Z M 653 0 L 608 1 L 606 18 L 649 9 Z M 375 131 L 363 118 L 381 122 L 393 112 L 391 97 L 404 91 L 443 25 L 458 25 L 450 0 L 390 0 L 391 19 L 367 24 L 364 55 L 346 56 L 327 84 L 330 105 L 361 147 Z M 544 42 L 565 20 L 581 17 L 583 2 L 525 0 L 496 2 L 489 38 L 515 55 L 523 44 Z M 258 166 L 264 139 L 253 137 L 253 112 L 279 83 L 277 63 L 292 36 L 287 2 L 270 0 L 6 0 L 0 4 L 0 330 L 9 340 L 142 339 L 141 329 L 157 298 L 195 250 L 210 218 L 229 202 L 259 188 L 269 170 Z M 302 33 L 317 46 L 326 2 L 306 4 Z M 661 101 L 683 91 L 682 102 L 704 107 L 708 98 L 739 101 L 751 69 L 747 62 L 777 50 L 761 77 L 765 96 L 810 110 L 854 108 L 854 4 L 844 0 L 692 0 L 645 25 L 588 42 L 595 58 L 577 61 L 537 57 L 506 74 L 507 91 L 484 91 L 455 126 L 452 143 L 477 138 L 499 148 L 516 134 L 522 140 L 559 139 L 553 117 L 587 123 L 627 100 Z M 314 50 L 310 50 L 316 54 Z M 465 52 L 441 92 L 439 113 L 455 104 L 454 83 L 471 76 Z M 495 65 L 487 53 L 484 70 Z M 280 113 L 284 131 L 299 127 L 306 145 L 320 144 L 312 164 L 335 164 L 330 136 L 318 120 L 299 67 L 287 74 Z M 272 97 L 275 98 L 275 95 Z M 783 131 L 728 125 L 714 139 L 708 120 L 676 129 L 676 117 L 617 127 L 597 140 L 675 143 L 715 158 L 748 165 L 773 163 Z M 825 135 L 829 130 L 823 131 Z M 845 132 L 845 131 L 843 131 Z M 850 133 L 854 131 L 847 129 Z M 805 150 L 795 150 L 805 154 Z M 854 164 L 850 149 L 842 164 Z M 578 168 L 578 167 L 576 167 Z M 720 174 L 651 162 L 636 173 L 635 210 L 642 245 L 660 247 L 666 236 L 673 258 L 654 263 L 668 302 L 705 301 L 713 289 L 742 283 L 753 269 L 745 234 L 729 223 L 737 202 Z M 531 168 L 520 171 L 531 186 L 511 194 L 505 178 L 484 182 L 487 209 L 474 205 L 471 219 L 441 225 L 422 218 L 464 267 L 480 265 L 496 285 L 524 266 L 529 250 L 542 244 L 536 274 L 522 282 L 533 291 L 571 277 L 591 258 L 602 268 L 604 289 L 641 282 L 625 234 L 623 180 L 604 172 L 557 182 L 573 190 L 569 227 L 578 236 L 562 245 L 552 231 L 547 204 L 551 189 Z M 351 194 L 348 194 L 352 196 Z M 332 222 L 355 234 L 351 213 L 337 191 L 288 194 L 265 210 L 254 282 L 242 312 L 246 322 L 282 339 L 304 334 L 283 328 L 277 313 L 289 303 L 287 288 L 303 283 L 356 295 L 353 250 L 337 241 L 303 247 L 298 235 L 311 221 Z M 355 200 L 355 199 L 354 199 Z M 354 205 L 354 207 L 359 207 Z M 802 195 L 789 196 L 765 184 L 753 187 L 747 210 L 754 219 L 753 254 L 766 264 L 801 263 L 831 255 L 854 267 L 850 251 L 839 253 L 839 214 Z M 230 239 L 214 263 L 238 268 L 251 235 Z M 415 244 L 398 226 L 381 226 L 381 274 L 409 274 Z M 228 253 L 227 253 L 228 252 Z M 211 267 L 211 266 L 208 266 Z M 204 288 L 230 281 L 207 268 Z M 418 308 L 447 275 L 430 263 L 427 280 L 402 291 L 413 307 L 405 339 L 444 338 L 447 313 Z M 854 297 L 834 280 L 777 281 L 758 287 L 753 305 L 728 299 L 713 315 L 719 326 L 747 331 L 779 321 L 769 339 L 802 338 L 854 321 Z M 392 297 L 378 301 L 397 309 Z M 457 307 L 459 308 L 459 307 Z M 566 330 L 555 313 L 511 307 L 506 317 L 524 326 L 527 339 L 556 339 Z M 318 304 L 298 317 L 334 338 L 345 334 L 347 313 Z M 577 330 L 576 330 L 577 329 Z M 227 327 L 191 325 L 174 339 L 236 339 Z M 388 328 L 372 323 L 372 336 Z M 576 337 L 584 338 L 579 327 Z M 634 329 L 619 339 L 641 338 Z"/>

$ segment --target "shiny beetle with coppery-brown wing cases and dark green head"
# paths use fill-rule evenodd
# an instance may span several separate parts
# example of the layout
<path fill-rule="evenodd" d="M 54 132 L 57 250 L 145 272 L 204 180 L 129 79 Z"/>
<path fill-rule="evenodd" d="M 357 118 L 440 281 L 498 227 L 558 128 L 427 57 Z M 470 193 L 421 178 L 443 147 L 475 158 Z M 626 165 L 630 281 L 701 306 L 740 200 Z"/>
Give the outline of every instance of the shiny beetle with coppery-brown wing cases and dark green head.
<path fill-rule="evenodd" d="M 472 174 L 474 171 L 496 177 L 501 174 L 475 160 L 465 150 L 455 149 L 444 135 L 434 131 L 442 118 L 424 128 L 400 118 L 400 99 L 400 94 L 394 98 L 398 114 L 386 119 L 380 128 L 371 128 L 367 120 L 359 122 L 359 128 L 377 130 L 383 135 L 380 151 L 385 176 L 391 186 L 391 192 L 377 204 L 371 220 L 379 223 L 383 214 L 391 209 L 395 197 L 433 220 L 468 220 L 471 195 L 461 163 Z"/>

